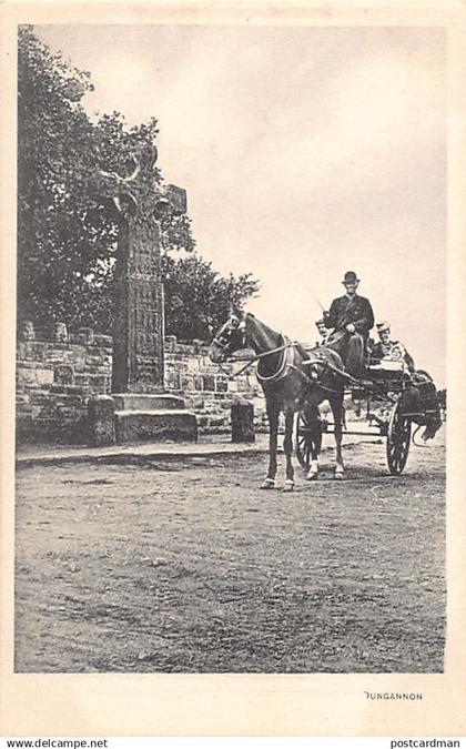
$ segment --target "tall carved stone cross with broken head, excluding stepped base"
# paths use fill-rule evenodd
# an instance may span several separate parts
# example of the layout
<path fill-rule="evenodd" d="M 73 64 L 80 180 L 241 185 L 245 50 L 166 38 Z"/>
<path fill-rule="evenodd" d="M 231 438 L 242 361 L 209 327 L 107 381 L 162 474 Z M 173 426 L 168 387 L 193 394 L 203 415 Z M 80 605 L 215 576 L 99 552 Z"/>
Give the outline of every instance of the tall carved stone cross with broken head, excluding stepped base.
<path fill-rule="evenodd" d="M 164 389 L 160 219 L 166 212 L 184 213 L 186 194 L 175 185 L 160 188 L 153 173 L 154 154 L 126 179 L 101 171 L 119 220 L 112 393 Z"/>

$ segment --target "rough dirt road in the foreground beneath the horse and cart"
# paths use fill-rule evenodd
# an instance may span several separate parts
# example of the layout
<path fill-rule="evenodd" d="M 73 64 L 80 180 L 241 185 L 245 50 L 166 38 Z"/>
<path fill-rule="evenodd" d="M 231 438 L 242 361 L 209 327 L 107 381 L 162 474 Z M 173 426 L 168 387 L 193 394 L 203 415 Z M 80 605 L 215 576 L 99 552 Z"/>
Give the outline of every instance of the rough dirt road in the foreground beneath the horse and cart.
<path fill-rule="evenodd" d="M 21 469 L 17 671 L 440 671 L 442 435 L 345 455 L 294 494 L 257 455 Z"/>

